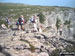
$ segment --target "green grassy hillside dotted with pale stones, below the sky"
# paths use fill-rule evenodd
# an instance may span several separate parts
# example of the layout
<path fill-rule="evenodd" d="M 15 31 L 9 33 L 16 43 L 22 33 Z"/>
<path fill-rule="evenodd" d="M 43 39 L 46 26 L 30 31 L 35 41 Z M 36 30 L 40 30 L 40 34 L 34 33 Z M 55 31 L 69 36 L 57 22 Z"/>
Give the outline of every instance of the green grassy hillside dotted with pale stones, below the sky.
<path fill-rule="evenodd" d="M 12 17 L 16 19 L 19 15 L 23 14 L 26 19 L 34 13 L 54 11 L 57 6 L 32 6 L 19 3 L 0 3 L 0 18 Z M 59 7 L 62 10 L 68 9 L 66 7 Z"/>

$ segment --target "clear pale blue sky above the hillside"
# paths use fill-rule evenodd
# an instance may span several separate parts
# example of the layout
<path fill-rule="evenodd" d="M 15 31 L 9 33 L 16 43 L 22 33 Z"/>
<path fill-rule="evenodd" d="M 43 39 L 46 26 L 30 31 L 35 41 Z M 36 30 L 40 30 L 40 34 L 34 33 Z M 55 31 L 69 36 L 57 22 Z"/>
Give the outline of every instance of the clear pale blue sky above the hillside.
<path fill-rule="evenodd" d="M 75 8 L 75 0 L 0 0 L 3 3 L 23 3 L 42 6 L 65 6 Z"/>

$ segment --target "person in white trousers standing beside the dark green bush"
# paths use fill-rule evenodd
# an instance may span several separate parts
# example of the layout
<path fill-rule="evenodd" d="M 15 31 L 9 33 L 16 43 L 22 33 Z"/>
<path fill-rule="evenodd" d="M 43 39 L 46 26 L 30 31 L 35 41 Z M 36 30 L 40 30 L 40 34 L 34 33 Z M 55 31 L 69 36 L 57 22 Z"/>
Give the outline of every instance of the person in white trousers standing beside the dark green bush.
<path fill-rule="evenodd" d="M 33 24 L 33 28 L 36 32 L 42 32 L 42 25 L 38 15 L 33 15 L 30 21 Z"/>

